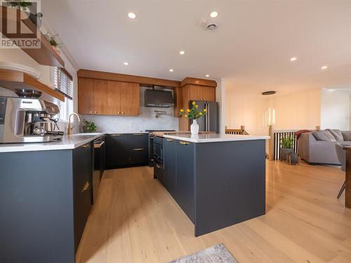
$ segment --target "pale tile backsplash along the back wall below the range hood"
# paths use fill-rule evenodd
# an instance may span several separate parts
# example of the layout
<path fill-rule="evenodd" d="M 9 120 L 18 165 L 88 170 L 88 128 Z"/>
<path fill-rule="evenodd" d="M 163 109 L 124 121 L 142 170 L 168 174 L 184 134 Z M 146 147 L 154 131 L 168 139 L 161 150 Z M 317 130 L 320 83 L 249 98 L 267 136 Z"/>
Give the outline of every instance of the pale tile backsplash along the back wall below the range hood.
<path fill-rule="evenodd" d="M 82 115 L 82 119 L 93 121 L 99 132 L 138 132 L 144 130 L 178 130 L 179 119 L 173 117 L 173 107 L 154 108 L 144 106 L 147 88 L 140 88 L 139 116 Z M 155 110 L 166 112 L 156 118 Z"/>

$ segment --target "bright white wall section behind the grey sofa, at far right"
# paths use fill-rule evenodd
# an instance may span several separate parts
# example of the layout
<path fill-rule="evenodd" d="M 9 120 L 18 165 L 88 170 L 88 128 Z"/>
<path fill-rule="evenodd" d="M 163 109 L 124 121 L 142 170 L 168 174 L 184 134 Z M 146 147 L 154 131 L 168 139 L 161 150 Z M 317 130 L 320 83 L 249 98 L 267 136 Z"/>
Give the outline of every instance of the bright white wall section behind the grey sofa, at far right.
<path fill-rule="evenodd" d="M 321 128 L 350 129 L 350 97 L 337 90 L 322 89 Z"/>

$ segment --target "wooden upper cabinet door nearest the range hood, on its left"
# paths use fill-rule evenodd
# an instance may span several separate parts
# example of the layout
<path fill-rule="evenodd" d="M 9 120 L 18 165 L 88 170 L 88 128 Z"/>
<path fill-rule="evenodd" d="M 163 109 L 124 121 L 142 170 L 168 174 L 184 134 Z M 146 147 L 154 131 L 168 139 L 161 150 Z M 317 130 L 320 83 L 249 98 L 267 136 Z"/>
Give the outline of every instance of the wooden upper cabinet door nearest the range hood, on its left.
<path fill-rule="evenodd" d="M 138 115 L 140 88 L 138 83 L 121 82 L 121 114 Z"/>

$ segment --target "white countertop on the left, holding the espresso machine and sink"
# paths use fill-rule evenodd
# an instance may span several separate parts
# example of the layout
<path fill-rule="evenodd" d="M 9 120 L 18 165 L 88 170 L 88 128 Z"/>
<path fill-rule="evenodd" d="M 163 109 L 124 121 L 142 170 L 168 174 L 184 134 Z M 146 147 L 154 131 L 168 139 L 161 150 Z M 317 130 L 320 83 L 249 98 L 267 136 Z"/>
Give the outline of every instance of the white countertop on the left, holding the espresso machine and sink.
<path fill-rule="evenodd" d="M 58 142 L 0 144 L 0 152 L 75 149 L 102 135 L 105 135 L 105 133 L 78 133 L 74 135 L 64 135 L 62 140 Z"/>

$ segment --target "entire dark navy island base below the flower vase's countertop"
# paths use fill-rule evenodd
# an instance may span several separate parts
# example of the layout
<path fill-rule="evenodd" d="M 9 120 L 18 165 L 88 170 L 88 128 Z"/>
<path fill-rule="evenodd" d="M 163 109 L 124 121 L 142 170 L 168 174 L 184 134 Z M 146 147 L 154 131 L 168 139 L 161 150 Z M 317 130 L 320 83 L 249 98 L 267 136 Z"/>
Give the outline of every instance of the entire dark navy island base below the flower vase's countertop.
<path fill-rule="evenodd" d="M 164 186 L 194 235 L 265 214 L 265 140 L 164 138 Z"/>

